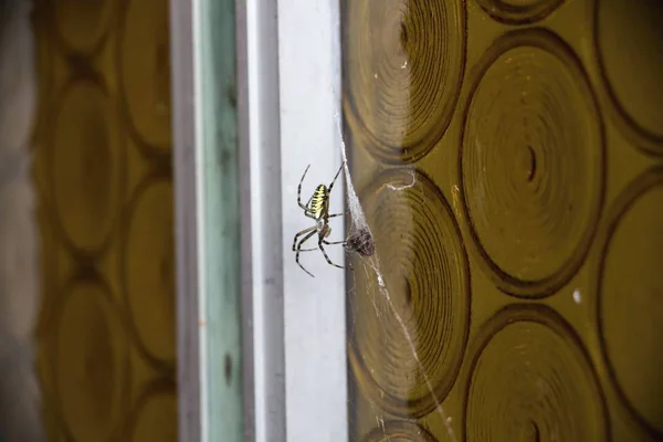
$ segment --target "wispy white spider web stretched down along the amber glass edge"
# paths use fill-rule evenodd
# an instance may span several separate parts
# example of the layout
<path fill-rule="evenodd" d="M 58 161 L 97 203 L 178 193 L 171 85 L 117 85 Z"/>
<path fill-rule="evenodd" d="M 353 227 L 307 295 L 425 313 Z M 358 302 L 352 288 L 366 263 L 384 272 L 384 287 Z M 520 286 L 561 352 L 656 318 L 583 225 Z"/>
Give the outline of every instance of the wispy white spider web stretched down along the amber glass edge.
<path fill-rule="evenodd" d="M 325 1 L 329 1 L 329 0 L 325 0 Z M 332 8 L 332 10 L 335 10 L 335 8 Z M 336 8 L 336 10 L 338 10 L 338 8 Z M 323 32 L 324 32 L 324 30 L 327 30 L 327 29 L 343 30 L 341 23 L 340 23 L 340 14 L 333 18 L 333 20 L 334 20 L 334 23 L 332 23 L 330 28 L 325 27 L 325 25 L 320 27 Z M 340 56 L 339 56 L 341 53 L 340 52 L 341 51 L 340 38 L 339 38 L 339 35 L 333 36 L 333 35 L 328 35 L 328 34 L 324 35 L 324 36 L 332 44 L 333 56 L 329 57 L 332 65 L 329 65 L 328 67 L 329 67 L 330 72 L 334 72 L 335 74 L 333 76 L 334 82 L 333 82 L 333 84 L 329 85 L 329 87 L 332 88 L 334 102 L 335 102 L 334 117 L 335 117 L 335 122 L 336 122 L 336 129 L 337 129 L 337 136 L 338 136 L 337 144 L 339 146 L 339 150 L 340 150 L 340 155 L 341 155 L 341 159 L 343 159 L 343 169 L 344 169 L 344 177 L 345 177 L 345 183 L 346 183 L 346 200 L 347 200 L 347 206 L 348 206 L 349 217 L 350 217 L 350 223 L 348 225 L 348 236 L 347 238 L 351 239 L 352 236 L 356 236 L 358 234 L 364 234 L 364 235 L 367 235 L 368 239 L 372 242 L 375 240 L 375 236 L 372 236 L 370 225 L 368 224 L 364 208 L 362 208 L 361 202 L 359 201 L 359 198 L 355 190 L 352 177 L 350 176 L 350 169 L 348 167 L 348 161 L 347 161 L 347 146 L 346 146 L 346 143 L 345 143 L 344 136 L 343 136 L 341 113 L 337 105 L 338 103 L 341 103 L 339 88 L 335 87 L 335 85 L 340 86 L 340 84 L 341 84 L 341 81 L 340 81 L 340 72 L 341 72 L 340 63 L 341 62 L 340 62 Z M 336 60 L 334 60 L 334 59 L 336 59 Z M 336 66 L 334 65 L 334 63 L 337 63 Z M 415 179 L 415 177 L 414 177 L 414 175 L 412 175 L 412 182 L 410 185 L 402 186 L 402 187 L 390 186 L 390 190 L 402 191 L 409 187 L 412 187 L 414 185 L 414 179 Z M 373 249 L 375 249 L 375 246 L 373 246 Z M 440 398 L 438 398 L 438 396 L 433 389 L 433 385 L 430 379 L 430 376 L 427 372 L 423 364 L 421 362 L 421 358 L 419 357 L 419 352 L 417 351 L 414 339 L 410 335 L 410 332 L 409 332 L 402 316 L 396 308 L 396 305 L 389 293 L 389 287 L 385 282 L 385 275 L 382 273 L 382 270 L 380 266 L 380 261 L 379 261 L 377 253 L 373 253 L 370 256 L 365 256 L 359 253 L 357 253 L 357 255 L 359 256 L 358 261 L 361 263 L 361 265 L 360 265 L 360 269 L 354 269 L 354 272 L 359 272 L 359 271 L 364 272 L 364 276 L 366 277 L 366 281 L 369 285 L 367 286 L 368 290 L 366 291 L 366 293 L 359 293 L 356 290 L 356 286 L 350 287 L 348 290 L 348 297 L 370 296 L 371 297 L 370 302 L 375 309 L 373 313 L 378 317 L 383 316 L 386 313 L 391 313 L 393 315 L 393 317 L 396 318 L 396 320 L 400 327 L 400 333 L 404 337 L 407 346 L 409 347 L 411 358 L 412 358 L 413 362 L 415 364 L 417 368 L 419 369 L 419 372 L 422 377 L 425 388 L 428 389 L 428 392 L 431 394 L 431 397 L 434 401 L 435 409 L 433 412 L 436 412 L 440 415 L 440 418 L 444 424 L 444 428 L 446 430 L 446 435 L 448 435 L 449 440 L 452 442 L 455 442 L 456 436 L 453 431 L 452 420 L 445 413 L 445 411 L 442 407 L 441 400 L 440 400 Z M 377 291 L 373 291 L 373 288 L 377 288 Z M 377 296 L 375 296 L 373 293 Z M 350 332 L 351 334 L 354 333 L 354 328 L 356 325 L 356 315 L 357 315 L 357 312 L 352 312 L 352 323 L 348 324 L 348 327 L 351 327 L 351 332 Z M 349 337 L 351 337 L 351 335 Z M 383 337 L 383 339 L 388 339 L 388 338 L 389 338 L 388 336 Z M 350 343 L 352 340 L 348 338 L 347 341 L 348 341 L 348 345 L 351 345 Z M 360 357 L 362 357 L 362 356 L 360 356 Z M 371 371 L 373 370 L 372 367 L 367 367 L 367 368 Z M 380 367 L 376 367 L 375 369 L 378 370 L 378 369 L 380 369 Z M 387 430 L 385 428 L 385 412 L 381 411 L 381 409 L 379 407 L 377 407 L 370 398 L 365 397 L 365 399 L 367 399 L 368 402 L 370 403 L 370 407 L 376 417 L 377 427 L 381 428 L 383 435 L 387 436 L 388 434 L 387 434 Z M 349 399 L 349 401 L 351 401 L 351 399 Z M 352 403 L 350 402 L 349 406 L 352 406 Z M 351 414 L 352 414 L 351 408 L 348 410 L 348 414 L 349 414 L 349 418 L 351 419 Z"/>

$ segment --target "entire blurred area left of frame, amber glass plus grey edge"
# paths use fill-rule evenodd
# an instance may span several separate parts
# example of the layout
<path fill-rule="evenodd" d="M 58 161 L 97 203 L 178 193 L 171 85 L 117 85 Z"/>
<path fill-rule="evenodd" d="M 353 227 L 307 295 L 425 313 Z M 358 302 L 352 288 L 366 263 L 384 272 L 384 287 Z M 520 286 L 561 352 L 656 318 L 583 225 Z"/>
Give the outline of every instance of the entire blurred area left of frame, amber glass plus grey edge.
<path fill-rule="evenodd" d="M 168 1 L 1 4 L 0 433 L 177 440 Z"/>

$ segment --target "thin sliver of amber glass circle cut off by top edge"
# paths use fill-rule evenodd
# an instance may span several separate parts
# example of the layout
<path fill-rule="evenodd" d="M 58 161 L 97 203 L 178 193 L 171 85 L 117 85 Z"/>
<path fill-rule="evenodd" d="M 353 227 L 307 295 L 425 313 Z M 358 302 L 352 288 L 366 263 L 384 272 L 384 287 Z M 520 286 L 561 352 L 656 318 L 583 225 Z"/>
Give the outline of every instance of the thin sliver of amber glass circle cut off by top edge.
<path fill-rule="evenodd" d="M 476 0 L 493 19 L 508 24 L 528 24 L 543 20 L 564 0 Z"/>

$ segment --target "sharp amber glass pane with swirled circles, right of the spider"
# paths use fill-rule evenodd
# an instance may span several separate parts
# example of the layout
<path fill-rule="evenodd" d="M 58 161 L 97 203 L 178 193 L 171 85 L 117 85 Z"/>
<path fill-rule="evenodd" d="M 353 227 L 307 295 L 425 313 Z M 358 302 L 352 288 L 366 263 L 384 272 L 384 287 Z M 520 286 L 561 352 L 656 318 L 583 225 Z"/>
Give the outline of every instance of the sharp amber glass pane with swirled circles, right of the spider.
<path fill-rule="evenodd" d="M 663 436 L 660 2 L 341 12 L 350 440 Z"/>

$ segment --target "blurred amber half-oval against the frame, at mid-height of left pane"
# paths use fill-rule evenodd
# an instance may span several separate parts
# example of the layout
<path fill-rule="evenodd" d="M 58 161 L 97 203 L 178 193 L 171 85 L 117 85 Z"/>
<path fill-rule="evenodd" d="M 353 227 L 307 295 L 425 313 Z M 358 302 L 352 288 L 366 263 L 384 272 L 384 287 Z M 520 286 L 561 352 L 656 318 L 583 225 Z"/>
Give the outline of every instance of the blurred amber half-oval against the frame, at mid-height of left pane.
<path fill-rule="evenodd" d="M 145 181 L 134 197 L 124 244 L 125 295 L 144 355 L 175 364 L 172 185 Z"/>

